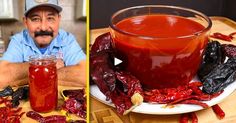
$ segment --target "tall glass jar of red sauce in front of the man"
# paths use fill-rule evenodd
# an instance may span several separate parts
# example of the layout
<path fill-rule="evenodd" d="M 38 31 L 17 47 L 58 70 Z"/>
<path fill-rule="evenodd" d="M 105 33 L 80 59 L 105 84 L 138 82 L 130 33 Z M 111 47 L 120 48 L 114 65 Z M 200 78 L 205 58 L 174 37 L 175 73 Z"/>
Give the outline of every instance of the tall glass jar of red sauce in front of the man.
<path fill-rule="evenodd" d="M 30 105 L 34 111 L 50 112 L 57 107 L 56 56 L 29 57 Z"/>

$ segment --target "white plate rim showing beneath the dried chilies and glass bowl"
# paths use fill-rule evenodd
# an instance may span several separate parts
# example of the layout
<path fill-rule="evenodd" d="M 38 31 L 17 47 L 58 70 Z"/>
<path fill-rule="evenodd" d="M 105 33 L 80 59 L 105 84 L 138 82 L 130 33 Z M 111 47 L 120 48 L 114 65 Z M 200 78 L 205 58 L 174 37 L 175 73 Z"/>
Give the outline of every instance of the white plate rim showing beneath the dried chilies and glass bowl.
<path fill-rule="evenodd" d="M 210 101 L 203 101 L 209 106 L 213 106 L 215 104 L 220 103 L 226 97 L 228 97 L 234 90 L 236 89 L 236 82 L 233 82 L 227 88 L 224 89 L 224 92 L 216 98 L 213 98 Z M 113 106 L 111 101 L 106 101 L 105 95 L 99 90 L 97 85 L 90 86 L 90 93 L 97 100 L 105 103 L 109 106 Z M 142 103 L 138 107 L 132 110 L 132 112 L 143 113 L 143 114 L 157 114 L 157 115 L 166 115 L 166 114 L 181 114 L 187 112 L 194 112 L 198 110 L 202 110 L 203 108 L 198 105 L 190 105 L 190 104 L 176 104 L 174 107 L 169 108 L 165 107 L 165 104 L 150 104 L 150 103 Z"/>

